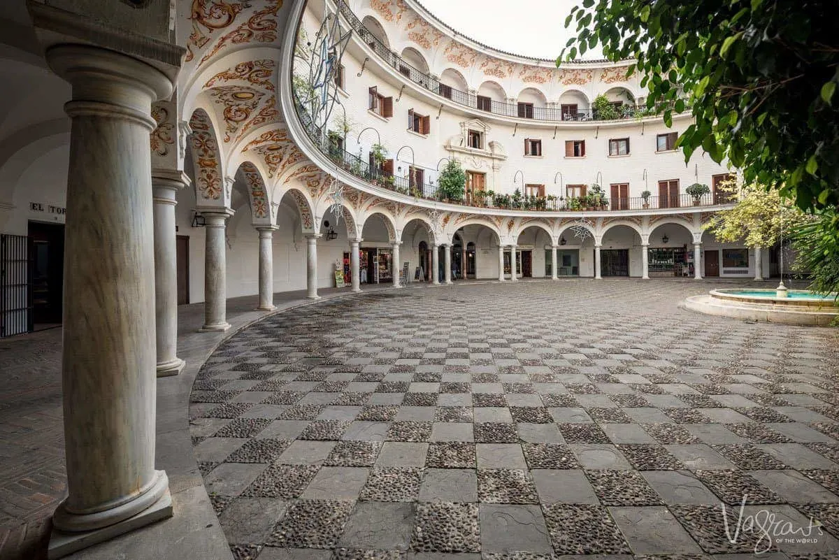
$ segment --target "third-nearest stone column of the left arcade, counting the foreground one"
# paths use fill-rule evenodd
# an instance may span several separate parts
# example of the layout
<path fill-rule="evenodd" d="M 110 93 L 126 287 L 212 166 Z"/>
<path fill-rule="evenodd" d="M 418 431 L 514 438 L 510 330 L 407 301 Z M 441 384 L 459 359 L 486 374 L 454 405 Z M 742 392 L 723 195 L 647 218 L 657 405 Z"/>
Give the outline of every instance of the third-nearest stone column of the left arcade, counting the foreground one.
<path fill-rule="evenodd" d="M 206 221 L 204 256 L 204 326 L 201 333 L 230 329 L 227 323 L 227 218 L 233 210 L 203 209 Z"/>

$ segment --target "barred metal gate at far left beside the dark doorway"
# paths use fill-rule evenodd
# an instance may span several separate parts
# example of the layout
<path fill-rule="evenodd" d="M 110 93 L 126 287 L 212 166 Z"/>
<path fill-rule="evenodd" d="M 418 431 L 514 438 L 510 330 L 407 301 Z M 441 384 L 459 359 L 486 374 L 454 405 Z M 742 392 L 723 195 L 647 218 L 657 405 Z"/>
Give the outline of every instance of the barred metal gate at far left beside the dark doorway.
<path fill-rule="evenodd" d="M 0 235 L 0 338 L 33 328 L 28 236 Z"/>

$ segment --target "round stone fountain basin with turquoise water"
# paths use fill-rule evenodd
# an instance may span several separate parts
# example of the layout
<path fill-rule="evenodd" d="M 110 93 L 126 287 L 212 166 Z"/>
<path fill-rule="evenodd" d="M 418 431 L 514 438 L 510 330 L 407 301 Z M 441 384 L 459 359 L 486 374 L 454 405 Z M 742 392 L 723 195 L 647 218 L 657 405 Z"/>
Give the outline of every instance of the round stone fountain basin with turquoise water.
<path fill-rule="evenodd" d="M 699 313 L 762 321 L 764 323 L 828 326 L 839 317 L 836 294 L 820 295 L 808 290 L 719 289 L 685 299 L 684 309 Z"/>

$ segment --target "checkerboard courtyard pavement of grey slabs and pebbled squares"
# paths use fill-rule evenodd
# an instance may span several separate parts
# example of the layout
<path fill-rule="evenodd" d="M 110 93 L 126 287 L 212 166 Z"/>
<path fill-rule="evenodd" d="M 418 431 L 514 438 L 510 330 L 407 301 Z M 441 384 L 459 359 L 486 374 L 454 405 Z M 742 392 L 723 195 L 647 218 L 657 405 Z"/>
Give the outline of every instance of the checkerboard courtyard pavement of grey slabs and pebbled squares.
<path fill-rule="evenodd" d="M 394 290 L 236 334 L 190 405 L 234 557 L 753 554 L 725 530 L 743 500 L 821 523 L 774 557 L 836 554 L 836 332 L 675 311 L 688 293 Z"/>

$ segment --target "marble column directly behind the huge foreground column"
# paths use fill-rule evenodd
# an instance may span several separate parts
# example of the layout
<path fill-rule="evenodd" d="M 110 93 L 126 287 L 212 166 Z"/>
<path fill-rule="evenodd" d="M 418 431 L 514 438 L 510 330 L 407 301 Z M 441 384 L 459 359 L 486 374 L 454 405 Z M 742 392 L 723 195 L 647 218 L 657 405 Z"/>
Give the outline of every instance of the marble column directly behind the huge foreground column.
<path fill-rule="evenodd" d="M 152 171 L 154 201 L 154 311 L 157 326 L 157 376 L 176 376 L 178 357 L 178 257 L 175 245 L 175 194 L 190 179 L 181 171 Z"/>

